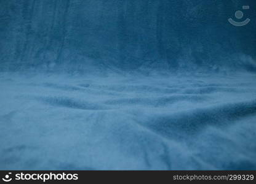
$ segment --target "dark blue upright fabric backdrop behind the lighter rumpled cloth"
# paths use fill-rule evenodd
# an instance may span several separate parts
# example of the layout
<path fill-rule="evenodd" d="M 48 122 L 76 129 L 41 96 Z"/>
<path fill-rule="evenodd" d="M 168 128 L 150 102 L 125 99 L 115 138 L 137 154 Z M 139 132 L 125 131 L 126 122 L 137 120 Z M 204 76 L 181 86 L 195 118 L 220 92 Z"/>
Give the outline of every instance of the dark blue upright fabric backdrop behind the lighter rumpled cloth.
<path fill-rule="evenodd" d="M 249 25 L 227 19 L 243 5 Z M 0 0 L 1 71 L 255 71 L 255 1 Z"/>

